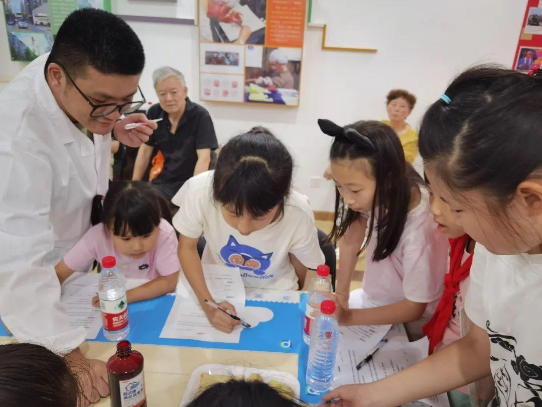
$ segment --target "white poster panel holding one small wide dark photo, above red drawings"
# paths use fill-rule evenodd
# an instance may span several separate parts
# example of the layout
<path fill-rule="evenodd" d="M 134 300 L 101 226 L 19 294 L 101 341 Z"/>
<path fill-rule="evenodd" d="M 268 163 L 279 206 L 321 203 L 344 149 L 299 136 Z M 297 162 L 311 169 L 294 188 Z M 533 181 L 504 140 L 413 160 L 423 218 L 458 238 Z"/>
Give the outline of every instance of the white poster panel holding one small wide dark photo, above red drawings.
<path fill-rule="evenodd" d="M 201 72 L 242 75 L 244 49 L 242 45 L 202 42 L 199 44 Z"/>

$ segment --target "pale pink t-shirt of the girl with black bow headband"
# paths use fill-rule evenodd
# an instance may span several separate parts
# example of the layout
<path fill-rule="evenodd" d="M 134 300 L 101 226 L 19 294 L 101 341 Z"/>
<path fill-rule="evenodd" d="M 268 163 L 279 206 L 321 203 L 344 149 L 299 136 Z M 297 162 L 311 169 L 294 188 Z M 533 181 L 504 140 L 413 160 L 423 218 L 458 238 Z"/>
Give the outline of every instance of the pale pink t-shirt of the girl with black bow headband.
<path fill-rule="evenodd" d="M 379 262 L 371 260 L 376 248 L 376 225 L 367 245 L 363 291 L 379 305 L 393 304 L 405 298 L 428 303 L 411 332 L 421 338 L 421 327 L 433 315 L 442 294 L 448 268 L 448 239 L 436 230 L 429 212 L 427 192 L 421 190 L 420 205 L 406 218 L 403 234 L 390 256 Z"/>

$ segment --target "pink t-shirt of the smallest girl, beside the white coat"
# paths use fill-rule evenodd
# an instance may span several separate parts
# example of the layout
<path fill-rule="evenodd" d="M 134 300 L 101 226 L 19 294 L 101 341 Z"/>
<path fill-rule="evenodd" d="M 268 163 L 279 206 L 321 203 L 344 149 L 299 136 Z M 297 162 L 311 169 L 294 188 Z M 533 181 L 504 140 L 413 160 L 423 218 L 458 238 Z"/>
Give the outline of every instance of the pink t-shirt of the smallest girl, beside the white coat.
<path fill-rule="evenodd" d="M 91 227 L 90 230 L 72 247 L 64 257 L 64 263 L 75 271 L 88 271 L 94 260 L 101 262 L 105 256 L 115 256 L 117 269 L 125 277 L 154 279 L 158 276 L 169 276 L 180 269 L 177 256 L 177 236 L 173 226 L 165 219 L 158 225 L 158 241 L 156 247 L 144 257 L 134 259 L 118 253 L 113 241 L 105 233 L 103 224 Z"/>

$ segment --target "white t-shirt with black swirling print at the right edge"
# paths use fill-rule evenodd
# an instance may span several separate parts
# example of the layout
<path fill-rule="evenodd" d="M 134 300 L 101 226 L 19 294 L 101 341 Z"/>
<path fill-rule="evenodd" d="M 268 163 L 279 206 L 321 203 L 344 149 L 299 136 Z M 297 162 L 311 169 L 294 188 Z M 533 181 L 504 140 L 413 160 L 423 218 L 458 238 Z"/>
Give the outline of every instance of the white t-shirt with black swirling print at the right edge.
<path fill-rule="evenodd" d="M 493 255 L 476 244 L 465 311 L 487 330 L 500 406 L 542 404 L 542 255 Z"/>

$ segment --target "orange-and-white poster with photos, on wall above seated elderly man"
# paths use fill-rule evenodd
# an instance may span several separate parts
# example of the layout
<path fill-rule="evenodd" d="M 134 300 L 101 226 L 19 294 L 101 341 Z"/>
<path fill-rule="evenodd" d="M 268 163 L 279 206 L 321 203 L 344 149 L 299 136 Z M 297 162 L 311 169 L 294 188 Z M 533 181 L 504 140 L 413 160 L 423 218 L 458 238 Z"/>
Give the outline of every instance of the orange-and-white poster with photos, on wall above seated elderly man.
<path fill-rule="evenodd" d="M 200 0 L 200 99 L 299 106 L 306 0 Z"/>

